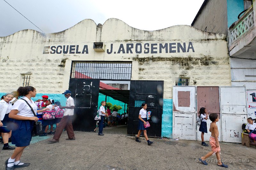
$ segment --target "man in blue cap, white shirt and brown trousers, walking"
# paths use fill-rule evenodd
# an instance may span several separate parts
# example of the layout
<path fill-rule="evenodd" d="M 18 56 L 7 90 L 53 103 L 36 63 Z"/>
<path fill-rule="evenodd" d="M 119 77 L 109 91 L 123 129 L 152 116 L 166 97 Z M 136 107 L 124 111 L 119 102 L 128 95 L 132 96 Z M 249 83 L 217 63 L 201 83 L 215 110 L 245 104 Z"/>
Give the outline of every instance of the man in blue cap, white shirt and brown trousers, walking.
<path fill-rule="evenodd" d="M 67 98 L 66 106 L 60 106 L 60 109 L 65 109 L 64 116 L 61 118 L 59 126 L 56 128 L 56 132 L 51 140 L 49 142 L 56 143 L 60 140 L 60 135 L 63 132 L 63 129 L 65 128 L 68 133 L 68 138 L 66 140 L 75 140 L 74 130 L 72 126 L 72 117 L 74 115 L 74 99 L 70 96 L 71 91 L 65 90 L 64 96 Z"/>

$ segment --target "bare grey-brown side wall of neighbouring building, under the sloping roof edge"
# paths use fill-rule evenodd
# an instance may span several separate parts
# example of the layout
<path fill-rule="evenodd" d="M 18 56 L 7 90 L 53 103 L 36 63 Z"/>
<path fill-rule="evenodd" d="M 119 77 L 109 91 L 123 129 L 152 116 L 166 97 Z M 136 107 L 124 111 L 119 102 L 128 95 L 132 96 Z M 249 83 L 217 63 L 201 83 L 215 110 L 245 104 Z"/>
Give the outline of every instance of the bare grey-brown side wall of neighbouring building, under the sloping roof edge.
<path fill-rule="evenodd" d="M 227 1 L 208 0 L 193 27 L 203 31 L 207 27 L 207 32 L 228 35 L 227 22 Z"/>

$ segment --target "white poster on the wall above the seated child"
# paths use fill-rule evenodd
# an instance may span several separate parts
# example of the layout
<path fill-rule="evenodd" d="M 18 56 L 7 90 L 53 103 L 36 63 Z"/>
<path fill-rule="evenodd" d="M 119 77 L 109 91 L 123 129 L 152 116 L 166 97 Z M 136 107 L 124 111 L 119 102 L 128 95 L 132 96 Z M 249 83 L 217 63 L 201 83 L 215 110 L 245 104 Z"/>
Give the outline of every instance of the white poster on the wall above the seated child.
<path fill-rule="evenodd" d="M 251 91 L 248 90 L 247 92 L 247 114 L 248 118 L 251 117 L 252 119 L 256 118 L 256 90 Z"/>

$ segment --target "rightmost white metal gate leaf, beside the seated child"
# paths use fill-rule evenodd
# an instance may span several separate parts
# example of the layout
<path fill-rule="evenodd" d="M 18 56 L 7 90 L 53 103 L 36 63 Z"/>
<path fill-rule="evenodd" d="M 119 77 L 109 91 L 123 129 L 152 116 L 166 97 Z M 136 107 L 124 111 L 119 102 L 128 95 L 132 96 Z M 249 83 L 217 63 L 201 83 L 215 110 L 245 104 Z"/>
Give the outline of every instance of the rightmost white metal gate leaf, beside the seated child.
<path fill-rule="evenodd" d="M 245 87 L 220 87 L 222 141 L 241 143 L 247 122 Z"/>

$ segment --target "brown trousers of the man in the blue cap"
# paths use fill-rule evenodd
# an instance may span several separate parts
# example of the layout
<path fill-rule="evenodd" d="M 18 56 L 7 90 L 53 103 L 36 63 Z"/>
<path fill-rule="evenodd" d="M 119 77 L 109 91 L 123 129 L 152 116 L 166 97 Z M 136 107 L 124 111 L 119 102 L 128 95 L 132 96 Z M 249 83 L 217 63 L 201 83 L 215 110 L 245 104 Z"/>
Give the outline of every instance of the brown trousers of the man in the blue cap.
<path fill-rule="evenodd" d="M 63 118 L 60 120 L 59 126 L 56 128 L 53 139 L 59 140 L 64 128 L 67 130 L 69 139 L 75 137 L 72 126 L 72 117 L 73 116 L 63 116 Z"/>

